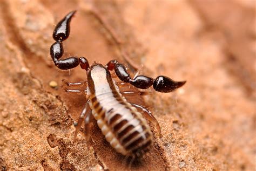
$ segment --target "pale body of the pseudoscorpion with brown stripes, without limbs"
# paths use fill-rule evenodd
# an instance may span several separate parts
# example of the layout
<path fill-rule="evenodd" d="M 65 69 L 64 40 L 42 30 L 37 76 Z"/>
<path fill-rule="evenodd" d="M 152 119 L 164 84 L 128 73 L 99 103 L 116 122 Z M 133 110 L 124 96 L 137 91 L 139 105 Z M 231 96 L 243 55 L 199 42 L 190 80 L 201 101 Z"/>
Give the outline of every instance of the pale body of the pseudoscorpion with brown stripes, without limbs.
<path fill-rule="evenodd" d="M 146 152 L 152 144 L 150 127 L 119 93 L 109 71 L 94 65 L 88 82 L 92 114 L 110 145 L 123 155 L 140 156 Z"/>

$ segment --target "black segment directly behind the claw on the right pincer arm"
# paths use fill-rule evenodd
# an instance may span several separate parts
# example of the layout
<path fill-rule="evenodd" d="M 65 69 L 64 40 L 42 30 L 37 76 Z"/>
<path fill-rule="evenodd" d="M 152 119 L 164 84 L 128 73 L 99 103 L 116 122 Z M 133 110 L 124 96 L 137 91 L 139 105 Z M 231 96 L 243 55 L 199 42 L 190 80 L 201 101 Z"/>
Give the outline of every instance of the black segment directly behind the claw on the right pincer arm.
<path fill-rule="evenodd" d="M 146 89 L 152 86 L 153 78 L 146 76 L 137 76 L 136 78 L 131 79 L 129 83 L 137 88 Z"/>

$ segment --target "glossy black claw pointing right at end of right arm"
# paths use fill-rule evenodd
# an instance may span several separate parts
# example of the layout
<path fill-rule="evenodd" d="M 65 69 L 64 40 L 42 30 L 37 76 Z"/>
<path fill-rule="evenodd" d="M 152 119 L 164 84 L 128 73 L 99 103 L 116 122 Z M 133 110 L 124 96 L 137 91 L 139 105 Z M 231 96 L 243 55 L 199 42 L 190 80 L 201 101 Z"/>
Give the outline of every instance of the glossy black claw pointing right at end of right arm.
<path fill-rule="evenodd" d="M 183 86 L 186 81 L 173 81 L 165 76 L 158 76 L 153 83 L 154 90 L 162 93 L 169 93 Z"/>

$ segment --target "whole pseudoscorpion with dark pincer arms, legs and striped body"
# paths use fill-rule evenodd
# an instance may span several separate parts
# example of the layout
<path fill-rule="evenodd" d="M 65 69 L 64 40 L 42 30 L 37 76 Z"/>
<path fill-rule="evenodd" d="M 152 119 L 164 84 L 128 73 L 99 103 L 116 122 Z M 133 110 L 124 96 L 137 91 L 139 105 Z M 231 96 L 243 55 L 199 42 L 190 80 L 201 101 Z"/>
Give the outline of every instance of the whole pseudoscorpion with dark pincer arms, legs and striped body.
<path fill-rule="evenodd" d="M 80 67 L 86 70 L 87 73 L 87 81 L 84 81 L 87 84 L 85 91 L 87 102 L 78 120 L 75 137 L 83 120 L 85 120 L 86 138 L 89 140 L 89 123 L 94 117 L 106 140 L 117 152 L 125 156 L 132 156 L 132 158 L 142 156 L 149 150 L 153 142 L 152 132 L 146 119 L 156 124 L 159 132 L 160 127 L 157 120 L 146 108 L 127 102 L 123 96 L 127 93 L 138 95 L 145 95 L 145 93 L 142 91 L 120 92 L 119 87 L 111 77 L 110 71 L 114 70 L 116 76 L 126 84 L 141 89 L 153 85 L 154 90 L 164 93 L 176 90 L 176 88 L 183 86 L 185 81 L 177 82 L 165 76 L 158 76 L 156 79 L 137 76 L 132 79 L 125 66 L 118 63 L 117 60 L 111 60 L 105 66 L 97 63 L 89 66 L 87 59 L 84 57 L 59 59 L 63 55 L 62 42 L 69 37 L 70 20 L 75 12 L 68 13 L 57 24 L 53 32 L 53 38 L 56 42 L 50 48 L 51 58 L 59 69 L 69 70 L 80 64 Z M 67 84 L 71 86 L 84 83 Z M 79 90 L 67 91 L 79 92 Z M 142 112 L 138 112 L 137 108 L 140 108 Z"/>

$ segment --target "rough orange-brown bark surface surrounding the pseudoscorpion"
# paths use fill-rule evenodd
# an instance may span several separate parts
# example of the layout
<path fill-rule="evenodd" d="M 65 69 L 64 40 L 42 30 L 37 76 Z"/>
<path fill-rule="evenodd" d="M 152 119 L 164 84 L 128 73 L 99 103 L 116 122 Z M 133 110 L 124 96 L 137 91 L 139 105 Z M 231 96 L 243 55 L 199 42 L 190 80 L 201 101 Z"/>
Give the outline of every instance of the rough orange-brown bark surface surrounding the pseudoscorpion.
<path fill-rule="evenodd" d="M 0 0 L 0 169 L 255 169 L 254 1 Z M 66 94 L 49 55 L 55 24 L 71 10 L 64 57 L 118 59 L 142 73 L 187 80 L 169 94 L 130 98 L 159 121 L 154 145 L 129 168 L 92 124 L 73 141 L 85 96 Z M 132 72 L 132 70 L 131 70 Z M 50 81 L 58 86 L 52 88 Z"/>

